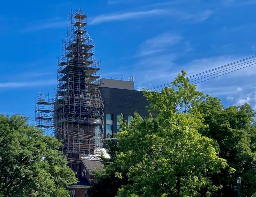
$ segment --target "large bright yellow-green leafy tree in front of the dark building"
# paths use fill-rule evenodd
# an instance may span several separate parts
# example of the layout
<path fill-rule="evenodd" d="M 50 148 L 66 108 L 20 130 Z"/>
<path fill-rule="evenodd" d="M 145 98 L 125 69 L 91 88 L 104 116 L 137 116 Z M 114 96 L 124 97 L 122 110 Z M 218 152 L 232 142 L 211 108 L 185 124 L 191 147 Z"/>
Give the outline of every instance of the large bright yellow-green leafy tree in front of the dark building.
<path fill-rule="evenodd" d="M 127 178 L 117 196 L 194 197 L 203 188 L 210 195 L 221 187 L 211 175 L 221 169 L 231 172 L 213 141 L 198 132 L 206 126 L 193 106 L 204 96 L 185 74 L 173 81 L 177 90 L 169 86 L 161 93 L 144 91 L 150 102 L 148 118 L 135 113 L 130 126 L 121 123 L 115 159 L 101 174 Z"/>

